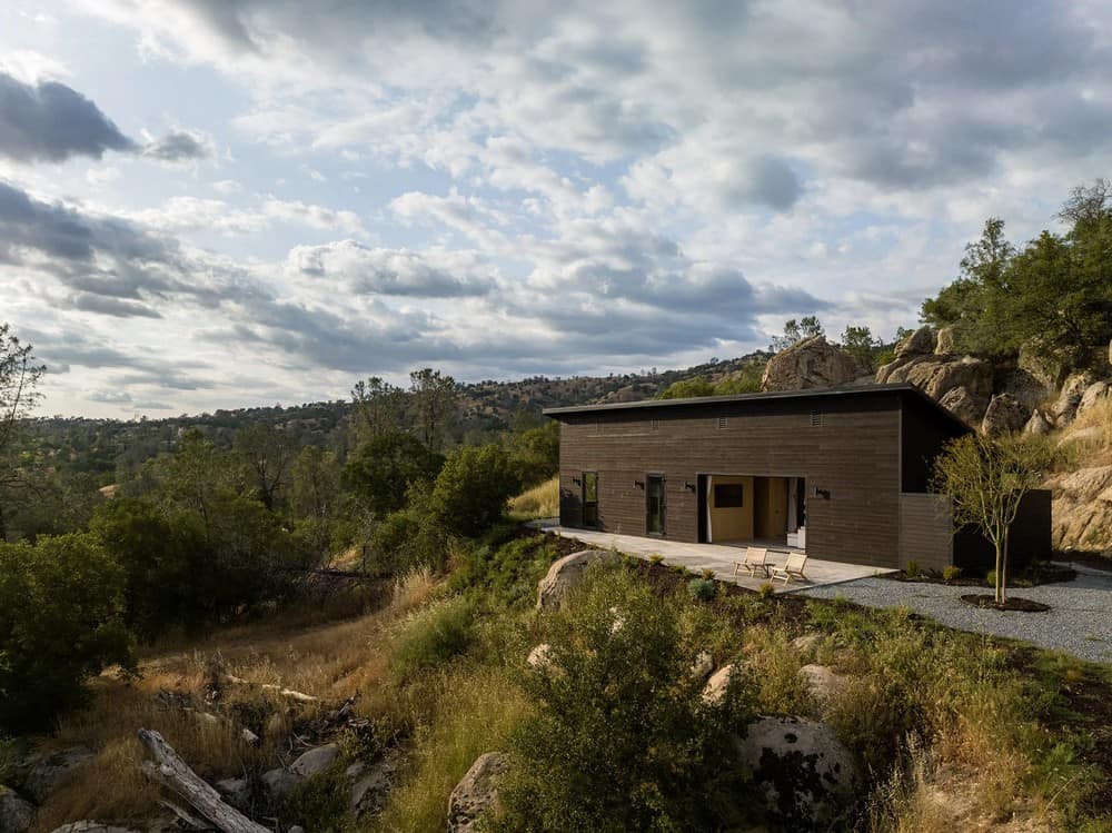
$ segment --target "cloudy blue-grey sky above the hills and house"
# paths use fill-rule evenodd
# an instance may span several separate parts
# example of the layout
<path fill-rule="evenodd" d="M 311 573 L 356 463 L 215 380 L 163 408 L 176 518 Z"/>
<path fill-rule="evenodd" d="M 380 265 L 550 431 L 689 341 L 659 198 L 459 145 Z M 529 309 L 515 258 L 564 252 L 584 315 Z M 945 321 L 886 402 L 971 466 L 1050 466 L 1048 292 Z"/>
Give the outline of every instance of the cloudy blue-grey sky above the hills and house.
<path fill-rule="evenodd" d="M 0 321 L 132 418 L 891 338 L 1109 176 L 1112 4 L 0 4 Z"/>

